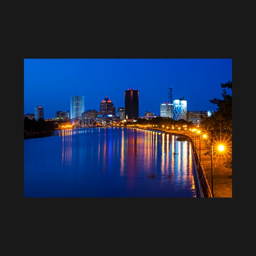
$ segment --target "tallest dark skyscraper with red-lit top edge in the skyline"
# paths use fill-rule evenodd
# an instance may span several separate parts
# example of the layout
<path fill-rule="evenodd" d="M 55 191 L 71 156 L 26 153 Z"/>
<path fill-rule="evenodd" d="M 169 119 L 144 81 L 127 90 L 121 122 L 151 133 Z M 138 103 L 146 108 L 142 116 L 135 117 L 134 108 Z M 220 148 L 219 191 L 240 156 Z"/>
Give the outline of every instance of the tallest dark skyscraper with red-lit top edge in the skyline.
<path fill-rule="evenodd" d="M 124 91 L 125 117 L 137 119 L 139 117 L 139 91 L 128 89 Z"/>

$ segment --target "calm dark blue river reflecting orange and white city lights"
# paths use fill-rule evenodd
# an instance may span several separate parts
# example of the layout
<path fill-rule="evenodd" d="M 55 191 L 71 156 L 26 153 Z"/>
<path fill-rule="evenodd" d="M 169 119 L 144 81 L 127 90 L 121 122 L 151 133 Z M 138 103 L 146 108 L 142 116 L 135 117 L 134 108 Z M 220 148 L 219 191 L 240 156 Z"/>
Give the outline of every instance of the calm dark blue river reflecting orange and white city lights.
<path fill-rule="evenodd" d="M 199 197 L 190 143 L 176 138 L 83 128 L 25 139 L 24 197 Z"/>

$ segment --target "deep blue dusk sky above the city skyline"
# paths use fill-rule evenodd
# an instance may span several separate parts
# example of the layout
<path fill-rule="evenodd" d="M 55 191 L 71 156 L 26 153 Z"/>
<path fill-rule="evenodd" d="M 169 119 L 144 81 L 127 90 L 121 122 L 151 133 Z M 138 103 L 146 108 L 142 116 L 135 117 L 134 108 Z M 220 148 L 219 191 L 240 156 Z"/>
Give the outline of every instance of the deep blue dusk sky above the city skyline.
<path fill-rule="evenodd" d="M 70 96 L 85 96 L 85 111 L 100 110 L 108 96 L 116 110 L 124 91 L 139 90 L 139 116 L 160 115 L 160 104 L 184 96 L 188 111 L 216 110 L 221 83 L 232 81 L 232 59 L 24 59 L 24 114 L 44 108 L 44 118 L 70 111 Z M 231 90 L 227 90 L 229 94 Z"/>

